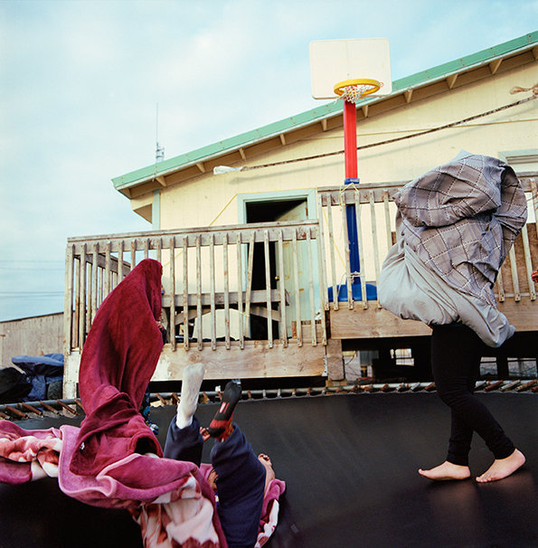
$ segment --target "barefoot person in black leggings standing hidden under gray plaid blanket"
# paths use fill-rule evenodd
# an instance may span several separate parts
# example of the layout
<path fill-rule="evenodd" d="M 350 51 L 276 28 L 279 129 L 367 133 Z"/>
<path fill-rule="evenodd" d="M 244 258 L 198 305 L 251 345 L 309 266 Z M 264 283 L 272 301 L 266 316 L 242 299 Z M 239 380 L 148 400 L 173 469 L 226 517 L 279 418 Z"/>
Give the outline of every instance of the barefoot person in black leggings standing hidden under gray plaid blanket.
<path fill-rule="evenodd" d="M 419 473 L 433 480 L 470 477 L 477 432 L 494 457 L 477 482 L 508 477 L 524 465 L 524 454 L 473 392 L 486 346 L 514 335 L 493 288 L 526 222 L 524 191 L 509 165 L 462 151 L 406 184 L 394 202 L 397 242 L 383 262 L 380 302 L 432 328 L 432 373 L 451 412 L 446 460 Z"/>

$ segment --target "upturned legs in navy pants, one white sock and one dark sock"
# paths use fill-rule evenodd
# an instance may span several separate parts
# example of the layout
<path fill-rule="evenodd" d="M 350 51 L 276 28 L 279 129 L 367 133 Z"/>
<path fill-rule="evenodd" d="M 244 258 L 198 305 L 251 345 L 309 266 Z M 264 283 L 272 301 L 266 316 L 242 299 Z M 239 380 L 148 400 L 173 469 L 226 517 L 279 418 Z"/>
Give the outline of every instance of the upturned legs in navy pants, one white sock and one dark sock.
<path fill-rule="evenodd" d="M 165 458 L 201 467 L 203 442 L 215 439 L 212 467 L 205 470 L 209 484 L 216 491 L 222 530 L 230 548 L 251 548 L 258 540 L 264 497 L 275 472 L 270 458 L 265 454 L 256 457 L 249 441 L 232 421 L 241 399 L 239 380 L 226 385 L 221 406 L 209 428 L 200 426 L 194 413 L 203 374 L 203 364 L 190 364 L 184 370 L 181 399 L 166 435 Z"/>

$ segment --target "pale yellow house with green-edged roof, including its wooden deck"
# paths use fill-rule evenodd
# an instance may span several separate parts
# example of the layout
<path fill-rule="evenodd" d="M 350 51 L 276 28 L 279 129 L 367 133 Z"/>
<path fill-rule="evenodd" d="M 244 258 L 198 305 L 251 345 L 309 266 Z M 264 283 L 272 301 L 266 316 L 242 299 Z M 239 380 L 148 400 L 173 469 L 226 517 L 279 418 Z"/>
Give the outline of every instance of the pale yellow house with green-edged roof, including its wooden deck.
<path fill-rule="evenodd" d="M 383 310 L 376 280 L 394 237 L 392 194 L 461 149 L 505 159 L 524 185 L 527 226 L 496 295 L 535 340 L 537 58 L 534 32 L 362 99 L 360 182 L 345 184 L 338 100 L 114 178 L 152 230 L 68 240 L 65 396 L 99 303 L 145 257 L 164 266 L 168 342 L 156 381 L 203 360 L 208 378 L 326 374 L 337 383 L 345 356 L 359 351 L 377 353 L 379 374 L 410 356 L 426 374 L 429 328 Z M 222 165 L 236 170 L 215 175 Z"/>

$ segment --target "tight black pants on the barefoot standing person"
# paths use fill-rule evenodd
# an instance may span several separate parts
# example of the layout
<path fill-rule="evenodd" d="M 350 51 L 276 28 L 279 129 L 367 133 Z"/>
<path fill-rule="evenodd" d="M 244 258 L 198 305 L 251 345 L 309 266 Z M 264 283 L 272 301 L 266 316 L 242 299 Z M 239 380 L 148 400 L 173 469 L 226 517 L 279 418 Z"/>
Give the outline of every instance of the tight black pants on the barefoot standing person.
<path fill-rule="evenodd" d="M 467 326 L 433 326 L 431 369 L 439 397 L 452 413 L 447 460 L 460 466 L 468 466 L 473 431 L 486 441 L 495 458 L 509 457 L 515 449 L 493 415 L 473 394 L 484 347 Z"/>

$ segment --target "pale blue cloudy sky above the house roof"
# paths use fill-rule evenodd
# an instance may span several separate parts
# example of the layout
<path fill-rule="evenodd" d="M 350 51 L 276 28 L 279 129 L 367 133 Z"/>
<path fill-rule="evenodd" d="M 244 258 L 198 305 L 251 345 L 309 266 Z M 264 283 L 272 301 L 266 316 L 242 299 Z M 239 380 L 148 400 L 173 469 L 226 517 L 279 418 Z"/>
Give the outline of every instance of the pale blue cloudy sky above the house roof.
<path fill-rule="evenodd" d="M 71 236 L 146 231 L 113 177 L 329 102 L 313 40 L 392 80 L 538 29 L 538 0 L 0 0 L 0 321 L 61 312 Z M 157 116 L 158 112 L 158 116 Z"/>

